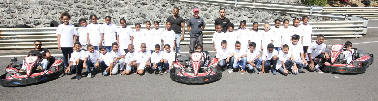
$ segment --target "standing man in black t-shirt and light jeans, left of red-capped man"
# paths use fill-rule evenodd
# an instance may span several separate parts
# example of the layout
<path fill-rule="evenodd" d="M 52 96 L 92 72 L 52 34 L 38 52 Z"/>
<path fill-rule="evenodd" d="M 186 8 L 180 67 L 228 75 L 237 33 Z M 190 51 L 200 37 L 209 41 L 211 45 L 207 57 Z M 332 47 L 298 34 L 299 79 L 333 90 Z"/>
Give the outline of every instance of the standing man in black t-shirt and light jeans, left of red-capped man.
<path fill-rule="evenodd" d="M 185 20 L 184 18 L 178 15 L 178 8 L 173 8 L 173 15 L 168 17 L 167 22 L 169 21 L 171 24 L 171 29 L 175 31 L 176 34 L 176 53 L 180 53 L 180 44 L 181 41 L 184 40 L 185 34 Z M 166 28 L 167 29 L 167 28 Z"/>

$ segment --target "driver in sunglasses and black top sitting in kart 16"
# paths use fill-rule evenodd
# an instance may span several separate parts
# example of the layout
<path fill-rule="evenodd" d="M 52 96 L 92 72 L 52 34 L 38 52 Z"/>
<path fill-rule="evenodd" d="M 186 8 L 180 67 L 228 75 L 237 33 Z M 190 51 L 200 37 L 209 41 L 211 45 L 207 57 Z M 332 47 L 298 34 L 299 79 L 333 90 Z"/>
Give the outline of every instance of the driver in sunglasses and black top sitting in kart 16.
<path fill-rule="evenodd" d="M 46 70 L 47 66 L 50 64 L 48 59 L 51 58 L 50 56 L 50 51 L 46 48 L 42 48 L 42 42 L 40 40 L 36 40 L 34 41 L 34 46 L 36 47 L 36 49 L 34 50 L 30 50 L 29 51 L 29 54 L 31 53 L 39 53 L 42 55 L 42 59 L 40 59 L 41 61 L 39 61 L 40 63 L 42 63 L 42 66 L 38 66 L 37 69 L 44 69 Z M 29 55 L 31 56 L 31 55 Z M 27 56 L 27 57 L 29 57 Z M 25 64 L 25 61 L 23 62 L 23 64 Z M 20 71 L 25 71 L 26 67 L 25 65 L 22 65 Z"/>

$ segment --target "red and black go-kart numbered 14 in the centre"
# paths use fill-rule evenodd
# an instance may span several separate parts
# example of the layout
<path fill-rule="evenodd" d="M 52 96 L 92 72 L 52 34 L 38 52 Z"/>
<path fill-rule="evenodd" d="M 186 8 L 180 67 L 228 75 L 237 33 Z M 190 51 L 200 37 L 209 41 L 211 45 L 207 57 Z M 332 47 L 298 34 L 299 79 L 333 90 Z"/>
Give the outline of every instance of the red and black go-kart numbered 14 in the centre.
<path fill-rule="evenodd" d="M 202 54 L 206 53 L 209 64 L 201 67 Z M 218 67 L 217 58 L 209 57 L 209 52 L 194 50 L 190 55 L 177 56 L 177 60 L 170 69 L 170 79 L 180 83 L 198 84 L 219 80 L 222 77 L 222 69 Z M 188 66 L 189 62 L 192 67 Z"/>

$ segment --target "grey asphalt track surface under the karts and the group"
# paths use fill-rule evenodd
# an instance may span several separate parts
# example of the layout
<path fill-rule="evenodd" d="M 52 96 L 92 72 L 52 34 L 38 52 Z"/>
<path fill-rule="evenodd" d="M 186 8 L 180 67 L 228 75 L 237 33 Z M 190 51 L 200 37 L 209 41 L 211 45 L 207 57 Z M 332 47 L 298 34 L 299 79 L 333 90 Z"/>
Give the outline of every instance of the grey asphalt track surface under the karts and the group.
<path fill-rule="evenodd" d="M 378 27 L 378 20 L 370 20 L 369 27 Z M 378 55 L 378 28 L 369 28 L 363 38 L 325 41 L 327 45 L 351 41 L 353 47 Z M 326 38 L 327 39 L 327 38 Z M 212 50 L 205 45 L 204 50 Z M 209 48 L 210 47 L 210 48 Z M 182 46 L 182 50 L 189 50 Z M 22 55 L 28 50 L 0 50 L 0 55 Z M 52 54 L 61 54 L 51 49 Z M 211 53 L 214 55 L 214 52 Z M 5 68 L 11 57 L 0 57 Z M 23 57 L 18 57 L 19 59 Z M 208 84 L 181 84 L 170 80 L 169 74 L 100 76 L 95 74 L 81 80 L 75 75 L 62 75 L 56 80 L 22 87 L 0 87 L 0 100 L 294 100 L 294 101 L 377 101 L 378 70 L 375 63 L 365 73 L 318 73 L 304 70 L 298 75 L 255 74 L 239 71 L 222 72 L 220 80 Z M 5 71 L 0 70 L 0 74 Z M 335 76 L 339 78 L 334 78 Z"/>

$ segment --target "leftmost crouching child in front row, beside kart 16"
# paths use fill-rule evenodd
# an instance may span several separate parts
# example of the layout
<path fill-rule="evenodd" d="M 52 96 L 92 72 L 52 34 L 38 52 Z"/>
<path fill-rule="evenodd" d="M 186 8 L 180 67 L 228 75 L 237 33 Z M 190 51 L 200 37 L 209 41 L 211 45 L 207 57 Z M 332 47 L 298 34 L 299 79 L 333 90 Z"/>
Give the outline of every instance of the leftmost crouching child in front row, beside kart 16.
<path fill-rule="evenodd" d="M 76 51 L 72 52 L 71 58 L 70 58 L 70 65 L 66 69 L 66 74 L 71 75 L 73 74 L 73 70 L 76 71 L 76 80 L 81 79 L 81 70 L 83 70 L 83 64 L 85 59 L 85 51 L 81 50 L 81 44 L 80 42 L 75 42 L 74 49 Z"/>

